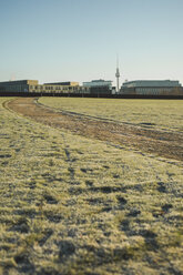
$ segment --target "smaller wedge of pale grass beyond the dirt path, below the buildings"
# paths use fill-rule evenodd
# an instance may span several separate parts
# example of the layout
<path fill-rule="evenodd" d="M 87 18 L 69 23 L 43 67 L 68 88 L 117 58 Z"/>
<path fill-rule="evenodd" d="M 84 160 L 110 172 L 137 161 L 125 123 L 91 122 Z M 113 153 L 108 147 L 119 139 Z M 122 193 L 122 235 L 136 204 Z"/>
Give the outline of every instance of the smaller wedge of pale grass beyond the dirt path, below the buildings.
<path fill-rule="evenodd" d="M 149 129 L 183 132 L 182 100 L 41 98 L 39 102 L 59 110 L 134 123 Z"/>

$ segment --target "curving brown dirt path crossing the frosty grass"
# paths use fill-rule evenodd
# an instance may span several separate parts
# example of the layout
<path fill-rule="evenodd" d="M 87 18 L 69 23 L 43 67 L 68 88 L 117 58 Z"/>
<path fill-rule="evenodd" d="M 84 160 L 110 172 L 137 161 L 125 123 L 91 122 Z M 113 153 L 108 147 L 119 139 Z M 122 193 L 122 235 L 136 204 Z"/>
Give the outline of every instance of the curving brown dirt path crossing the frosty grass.
<path fill-rule="evenodd" d="M 37 103 L 37 99 L 19 98 L 4 106 L 37 122 L 67 129 L 79 135 L 116 145 L 125 145 L 166 159 L 183 161 L 183 134 L 146 130 L 138 125 L 114 123 L 81 114 L 62 112 Z"/>

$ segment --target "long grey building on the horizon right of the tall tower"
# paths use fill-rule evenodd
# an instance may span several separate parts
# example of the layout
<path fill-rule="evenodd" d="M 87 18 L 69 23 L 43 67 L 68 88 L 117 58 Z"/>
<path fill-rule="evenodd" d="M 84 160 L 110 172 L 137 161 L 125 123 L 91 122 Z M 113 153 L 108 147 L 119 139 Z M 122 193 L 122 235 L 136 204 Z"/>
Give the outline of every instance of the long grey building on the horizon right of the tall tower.
<path fill-rule="evenodd" d="M 140 95 L 180 95 L 183 92 L 179 81 L 135 80 L 124 82 L 120 93 Z"/>

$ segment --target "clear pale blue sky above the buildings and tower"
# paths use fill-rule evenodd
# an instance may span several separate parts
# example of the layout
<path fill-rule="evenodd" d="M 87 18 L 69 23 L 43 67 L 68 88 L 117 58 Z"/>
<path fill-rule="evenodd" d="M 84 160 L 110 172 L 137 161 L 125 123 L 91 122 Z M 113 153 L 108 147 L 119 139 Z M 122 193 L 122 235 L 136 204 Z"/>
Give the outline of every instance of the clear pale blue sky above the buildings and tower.
<path fill-rule="evenodd" d="M 121 82 L 183 84 L 183 0 L 0 0 L 0 81 L 115 81 L 116 53 Z"/>

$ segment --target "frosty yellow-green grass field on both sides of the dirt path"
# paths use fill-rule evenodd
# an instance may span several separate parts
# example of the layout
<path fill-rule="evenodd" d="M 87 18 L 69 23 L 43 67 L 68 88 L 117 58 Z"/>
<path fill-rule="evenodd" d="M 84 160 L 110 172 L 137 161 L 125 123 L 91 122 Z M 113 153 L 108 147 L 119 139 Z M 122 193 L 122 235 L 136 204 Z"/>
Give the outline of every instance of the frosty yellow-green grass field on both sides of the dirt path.
<path fill-rule="evenodd" d="M 6 100 L 0 274 L 182 274 L 183 163 L 35 123 Z M 182 101 L 39 102 L 183 132 Z"/>

